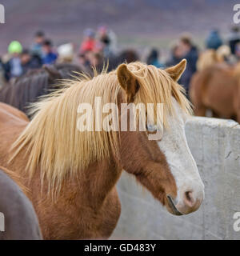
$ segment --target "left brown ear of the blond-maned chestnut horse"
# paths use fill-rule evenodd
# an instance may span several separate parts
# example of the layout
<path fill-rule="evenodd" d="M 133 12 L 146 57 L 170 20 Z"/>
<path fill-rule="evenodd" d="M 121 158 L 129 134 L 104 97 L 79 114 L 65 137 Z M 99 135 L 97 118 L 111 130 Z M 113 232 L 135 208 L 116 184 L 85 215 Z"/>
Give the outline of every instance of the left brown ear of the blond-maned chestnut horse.
<path fill-rule="evenodd" d="M 137 78 L 128 70 L 126 64 L 118 66 L 117 75 L 120 86 L 126 92 L 127 102 L 133 102 L 134 96 L 139 90 Z"/>

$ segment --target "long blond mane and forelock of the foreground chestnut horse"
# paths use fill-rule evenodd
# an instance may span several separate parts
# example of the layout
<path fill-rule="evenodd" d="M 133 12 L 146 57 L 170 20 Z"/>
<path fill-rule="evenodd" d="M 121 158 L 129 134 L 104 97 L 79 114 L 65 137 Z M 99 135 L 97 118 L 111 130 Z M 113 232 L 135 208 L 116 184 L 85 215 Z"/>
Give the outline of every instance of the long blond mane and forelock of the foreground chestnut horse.
<path fill-rule="evenodd" d="M 190 112 L 182 86 L 174 82 L 166 71 L 141 62 L 127 64 L 127 67 L 140 84 L 135 103 L 164 103 L 161 122 L 167 124 L 167 117 L 174 114 L 172 96 L 186 113 Z M 46 178 L 49 188 L 57 190 L 66 177 L 76 177 L 78 171 L 103 158 L 110 158 L 112 150 L 118 150 L 116 132 L 80 132 L 77 129 L 78 105 L 88 102 L 94 109 L 97 96 L 102 97 L 102 106 L 109 102 L 117 104 L 118 94 L 122 92 L 116 70 L 110 73 L 104 70 L 94 78 L 79 75 L 78 78 L 63 81 L 62 86 L 62 90 L 34 104 L 36 114 L 14 142 L 12 158 L 26 149 L 26 170 L 30 172 L 30 177 L 40 168 L 42 181 Z"/>

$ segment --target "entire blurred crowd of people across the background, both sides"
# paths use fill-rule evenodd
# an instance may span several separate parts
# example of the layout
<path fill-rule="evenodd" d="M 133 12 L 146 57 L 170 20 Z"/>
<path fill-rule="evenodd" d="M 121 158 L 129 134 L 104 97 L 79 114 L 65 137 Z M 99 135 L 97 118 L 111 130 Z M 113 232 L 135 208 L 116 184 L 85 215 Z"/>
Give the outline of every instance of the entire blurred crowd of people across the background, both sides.
<path fill-rule="evenodd" d="M 219 50 L 225 47 L 225 52 L 229 51 L 226 61 L 237 62 L 240 58 L 240 31 L 238 26 L 234 26 L 230 31 L 230 36 L 226 42 L 222 39 L 218 30 L 210 31 L 206 38 L 206 49 Z M 226 47 L 228 50 L 226 50 Z M 222 48 L 223 49 L 223 48 Z M 78 62 L 82 66 L 102 66 L 106 59 L 113 58 L 118 52 L 117 38 L 112 30 L 107 26 L 98 26 L 98 29 L 86 29 L 83 33 L 83 40 L 79 47 L 78 54 L 75 52 L 74 44 L 66 43 L 55 47 L 53 42 L 46 38 L 42 31 L 34 35 L 34 42 L 29 49 L 23 48 L 18 41 L 10 42 L 8 53 L 0 58 L 0 80 L 9 82 L 12 78 L 18 78 L 26 74 L 28 70 L 39 68 L 44 64 L 54 64 L 55 62 Z M 188 91 L 190 78 L 197 70 L 199 49 L 190 35 L 182 35 L 174 43 L 170 50 L 170 57 L 161 61 L 159 50 L 151 49 L 146 58 L 142 61 L 149 65 L 165 68 L 174 66 L 186 58 L 186 71 L 182 75 L 180 83 Z"/>

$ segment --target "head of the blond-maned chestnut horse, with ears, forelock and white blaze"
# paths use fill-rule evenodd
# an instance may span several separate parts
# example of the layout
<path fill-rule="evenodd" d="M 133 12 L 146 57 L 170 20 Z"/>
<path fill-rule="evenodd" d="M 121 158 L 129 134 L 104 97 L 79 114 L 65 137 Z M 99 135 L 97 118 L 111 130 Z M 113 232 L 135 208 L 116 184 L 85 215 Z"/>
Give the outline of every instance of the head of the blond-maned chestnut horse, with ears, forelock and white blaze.
<path fill-rule="evenodd" d="M 204 185 L 186 142 L 187 111 L 184 108 L 190 106 L 177 83 L 186 68 L 186 60 L 166 70 L 146 66 L 142 69 L 144 74 L 141 68 L 134 64 L 118 67 L 123 98 L 128 103 L 143 101 L 146 104 L 150 99 L 159 102 L 162 97 L 168 127 L 164 126 L 157 140 L 149 140 L 152 130 L 121 132 L 122 166 L 171 214 L 189 214 L 201 205 Z"/>

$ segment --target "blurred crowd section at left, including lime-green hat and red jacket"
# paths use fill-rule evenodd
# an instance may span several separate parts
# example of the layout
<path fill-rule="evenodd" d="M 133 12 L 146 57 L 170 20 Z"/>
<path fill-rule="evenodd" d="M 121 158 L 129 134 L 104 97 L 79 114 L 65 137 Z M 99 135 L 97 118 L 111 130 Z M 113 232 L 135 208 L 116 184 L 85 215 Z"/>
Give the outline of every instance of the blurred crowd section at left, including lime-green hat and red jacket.
<path fill-rule="evenodd" d="M 114 32 L 106 26 L 99 26 L 96 32 L 86 29 L 78 50 L 78 62 L 82 66 L 98 66 L 102 58 L 110 58 L 114 55 L 115 42 Z M 44 64 L 73 62 L 74 58 L 74 44 L 66 43 L 54 47 L 53 42 L 46 38 L 44 32 L 38 31 L 29 49 L 23 48 L 21 42 L 10 42 L 7 54 L 0 58 L 0 73 L 6 82 L 9 82 L 11 78 L 18 78 L 28 70 L 39 68 Z"/>

